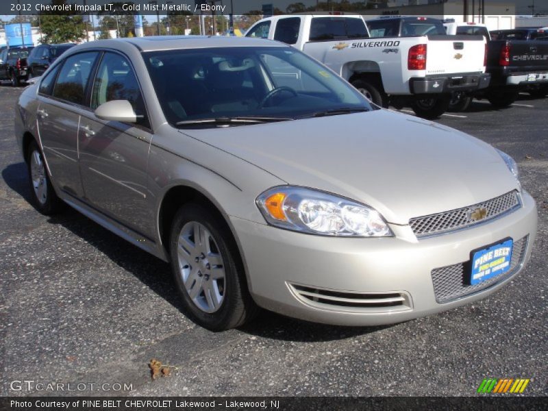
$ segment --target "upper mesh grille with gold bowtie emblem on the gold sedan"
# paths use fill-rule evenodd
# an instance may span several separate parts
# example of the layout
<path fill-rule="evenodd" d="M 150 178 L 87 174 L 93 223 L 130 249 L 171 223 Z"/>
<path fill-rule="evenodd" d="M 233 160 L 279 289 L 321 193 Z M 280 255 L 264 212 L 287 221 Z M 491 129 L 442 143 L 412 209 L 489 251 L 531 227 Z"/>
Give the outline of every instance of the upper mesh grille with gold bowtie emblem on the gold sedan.
<path fill-rule="evenodd" d="M 432 236 L 434 234 L 440 234 L 449 232 L 454 229 L 462 227 L 468 227 L 469 225 L 484 223 L 490 219 L 494 219 L 501 214 L 511 212 L 516 208 L 519 208 L 521 203 L 517 191 L 507 192 L 505 195 L 484 201 L 483 203 L 477 203 L 473 206 L 458 208 L 457 210 L 451 210 L 447 212 L 440 212 L 439 214 L 430 214 L 429 216 L 416 217 L 410 219 L 409 225 L 417 237 Z M 479 221 L 473 221 L 471 219 L 471 212 L 477 208 L 485 208 L 487 214 L 484 219 Z"/>

